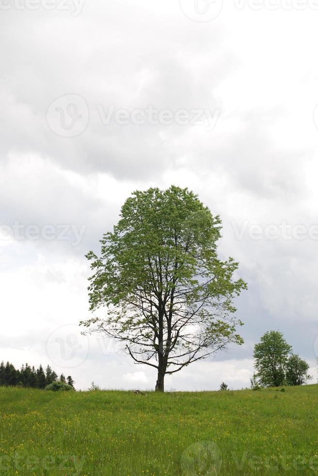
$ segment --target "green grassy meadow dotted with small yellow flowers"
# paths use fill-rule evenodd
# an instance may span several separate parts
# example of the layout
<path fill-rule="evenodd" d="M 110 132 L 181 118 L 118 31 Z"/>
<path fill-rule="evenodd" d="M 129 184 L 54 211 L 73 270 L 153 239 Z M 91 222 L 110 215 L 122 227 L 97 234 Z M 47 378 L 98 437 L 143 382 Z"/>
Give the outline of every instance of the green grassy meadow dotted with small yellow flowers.
<path fill-rule="evenodd" d="M 318 385 L 197 393 L 0 387 L 0 474 L 318 474 Z"/>

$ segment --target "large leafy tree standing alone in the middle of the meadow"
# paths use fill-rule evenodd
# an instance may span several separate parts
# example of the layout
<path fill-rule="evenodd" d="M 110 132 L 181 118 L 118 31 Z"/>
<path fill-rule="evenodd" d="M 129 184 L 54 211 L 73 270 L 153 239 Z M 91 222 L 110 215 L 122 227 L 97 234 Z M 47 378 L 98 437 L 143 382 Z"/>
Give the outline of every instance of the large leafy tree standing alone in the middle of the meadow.
<path fill-rule="evenodd" d="M 233 281 L 233 258 L 217 256 L 220 229 L 220 217 L 187 188 L 149 188 L 126 200 L 101 256 L 87 255 L 90 309 L 106 306 L 107 316 L 81 324 L 156 369 L 157 391 L 166 374 L 243 342 L 233 298 L 246 284 Z"/>

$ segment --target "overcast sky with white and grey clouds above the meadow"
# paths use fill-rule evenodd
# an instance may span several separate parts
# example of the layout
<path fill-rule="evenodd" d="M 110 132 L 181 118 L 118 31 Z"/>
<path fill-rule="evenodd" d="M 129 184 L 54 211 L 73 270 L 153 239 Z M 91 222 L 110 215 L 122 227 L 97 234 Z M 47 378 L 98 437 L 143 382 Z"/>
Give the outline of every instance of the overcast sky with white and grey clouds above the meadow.
<path fill-rule="evenodd" d="M 82 336 L 89 250 L 136 189 L 189 187 L 248 283 L 244 345 L 167 390 L 248 387 L 281 331 L 318 357 L 318 1 L 0 0 L 0 359 L 78 389 L 155 371 Z"/>

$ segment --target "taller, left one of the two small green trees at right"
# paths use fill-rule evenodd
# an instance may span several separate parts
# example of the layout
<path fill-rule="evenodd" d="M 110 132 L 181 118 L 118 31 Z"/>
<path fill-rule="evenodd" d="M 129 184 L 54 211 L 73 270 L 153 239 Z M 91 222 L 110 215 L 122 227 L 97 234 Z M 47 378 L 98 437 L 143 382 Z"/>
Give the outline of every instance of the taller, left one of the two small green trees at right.
<path fill-rule="evenodd" d="M 285 382 L 285 369 L 291 345 L 278 331 L 266 332 L 254 346 L 256 376 L 265 387 L 279 387 Z"/>

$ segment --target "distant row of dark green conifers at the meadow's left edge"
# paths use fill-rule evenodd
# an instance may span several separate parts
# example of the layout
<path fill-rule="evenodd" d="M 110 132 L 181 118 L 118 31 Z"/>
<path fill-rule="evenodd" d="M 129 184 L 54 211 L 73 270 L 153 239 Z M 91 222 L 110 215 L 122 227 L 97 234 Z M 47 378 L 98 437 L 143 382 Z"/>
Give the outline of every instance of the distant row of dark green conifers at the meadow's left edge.
<path fill-rule="evenodd" d="M 60 377 L 58 377 L 58 374 L 56 374 L 49 365 L 44 371 L 41 364 L 38 369 L 35 369 L 34 366 L 31 367 L 26 363 L 22 365 L 20 370 L 16 369 L 10 362 L 4 364 L 2 361 L 0 364 L 0 386 L 45 389 L 47 385 L 53 382 L 67 383 L 74 389 L 75 382 L 71 375 L 65 378 L 64 374 L 61 374 Z"/>

